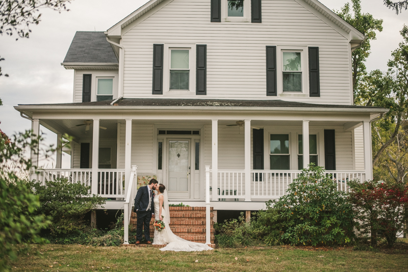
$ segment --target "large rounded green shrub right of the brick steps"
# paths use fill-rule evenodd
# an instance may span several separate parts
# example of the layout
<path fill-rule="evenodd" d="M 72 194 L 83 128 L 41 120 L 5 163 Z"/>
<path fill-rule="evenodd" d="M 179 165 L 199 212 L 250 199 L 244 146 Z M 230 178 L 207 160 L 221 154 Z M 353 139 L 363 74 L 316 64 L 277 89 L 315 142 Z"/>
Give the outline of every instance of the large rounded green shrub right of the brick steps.
<path fill-rule="evenodd" d="M 289 185 L 287 195 L 273 201 L 269 209 L 277 212 L 272 212 L 271 223 L 280 223 L 270 225 L 269 230 L 282 231 L 285 243 L 341 245 L 353 236 L 353 211 L 345 193 L 338 191 L 337 182 L 313 164 L 302 170 Z M 271 235 L 276 236 L 276 231 Z"/>

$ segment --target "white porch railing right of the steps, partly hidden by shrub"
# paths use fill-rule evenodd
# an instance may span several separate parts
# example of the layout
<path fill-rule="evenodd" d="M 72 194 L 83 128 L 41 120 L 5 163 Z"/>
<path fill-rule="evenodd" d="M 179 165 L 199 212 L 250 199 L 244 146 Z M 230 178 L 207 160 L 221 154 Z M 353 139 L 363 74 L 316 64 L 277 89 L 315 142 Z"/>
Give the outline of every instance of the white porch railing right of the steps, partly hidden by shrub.
<path fill-rule="evenodd" d="M 212 170 L 208 170 L 209 173 Z M 286 195 L 289 184 L 298 178 L 299 170 L 251 170 L 250 199 L 277 199 Z M 339 191 L 348 192 L 351 180 L 366 180 L 365 171 L 325 171 Z M 245 171 L 218 170 L 216 198 L 220 201 L 245 199 Z M 214 200 L 214 199 L 213 199 Z"/>

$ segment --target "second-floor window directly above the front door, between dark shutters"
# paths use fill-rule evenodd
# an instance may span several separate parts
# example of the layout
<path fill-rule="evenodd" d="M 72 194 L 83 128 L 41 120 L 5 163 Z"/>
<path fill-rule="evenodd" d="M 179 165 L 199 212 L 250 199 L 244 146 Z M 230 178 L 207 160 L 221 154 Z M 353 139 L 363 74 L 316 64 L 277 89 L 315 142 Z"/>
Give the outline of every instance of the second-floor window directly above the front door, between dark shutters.
<path fill-rule="evenodd" d="M 190 50 L 170 50 L 170 90 L 189 90 Z"/>

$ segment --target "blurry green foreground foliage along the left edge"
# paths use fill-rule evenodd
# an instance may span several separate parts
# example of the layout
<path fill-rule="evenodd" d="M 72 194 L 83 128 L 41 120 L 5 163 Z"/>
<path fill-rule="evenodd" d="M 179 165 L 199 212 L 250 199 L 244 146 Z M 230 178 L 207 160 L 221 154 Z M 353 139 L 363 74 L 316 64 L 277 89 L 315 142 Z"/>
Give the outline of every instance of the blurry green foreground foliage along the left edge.
<path fill-rule="evenodd" d="M 35 214 L 39 199 L 20 177 L 20 170 L 28 171 L 32 167 L 31 161 L 24 158 L 24 150 L 36 149 L 41 138 L 33 137 L 29 141 L 31 132 L 26 131 L 10 140 L 0 132 L 0 270 L 7 271 L 9 259 L 15 260 L 18 254 L 26 253 L 31 243 L 45 243 L 39 232 L 49 222 L 43 215 Z"/>

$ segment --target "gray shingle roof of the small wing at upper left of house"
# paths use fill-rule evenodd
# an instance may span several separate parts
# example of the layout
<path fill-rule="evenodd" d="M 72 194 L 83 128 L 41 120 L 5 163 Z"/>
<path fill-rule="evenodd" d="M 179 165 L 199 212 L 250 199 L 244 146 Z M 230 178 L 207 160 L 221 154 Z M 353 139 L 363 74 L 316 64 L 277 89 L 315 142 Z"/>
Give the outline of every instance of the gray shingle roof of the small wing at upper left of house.
<path fill-rule="evenodd" d="M 77 31 L 63 63 L 118 63 L 104 32 Z"/>

